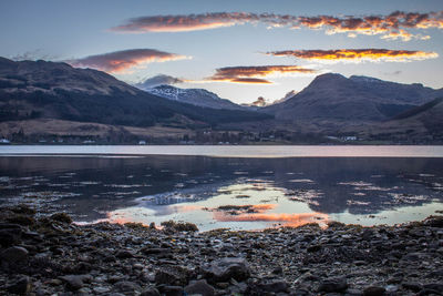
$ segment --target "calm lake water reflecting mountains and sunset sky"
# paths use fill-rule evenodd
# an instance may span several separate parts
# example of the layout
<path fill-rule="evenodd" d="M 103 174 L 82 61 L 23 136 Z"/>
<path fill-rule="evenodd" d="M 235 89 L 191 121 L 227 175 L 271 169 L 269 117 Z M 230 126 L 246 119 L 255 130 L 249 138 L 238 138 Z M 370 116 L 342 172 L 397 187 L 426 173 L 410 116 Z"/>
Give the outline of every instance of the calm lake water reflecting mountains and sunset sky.
<path fill-rule="evenodd" d="M 33 156 L 11 156 L 20 153 Z M 443 210 L 441 146 L 0 146 L 0 155 L 1 204 L 78 222 L 261 229 L 395 224 Z"/>

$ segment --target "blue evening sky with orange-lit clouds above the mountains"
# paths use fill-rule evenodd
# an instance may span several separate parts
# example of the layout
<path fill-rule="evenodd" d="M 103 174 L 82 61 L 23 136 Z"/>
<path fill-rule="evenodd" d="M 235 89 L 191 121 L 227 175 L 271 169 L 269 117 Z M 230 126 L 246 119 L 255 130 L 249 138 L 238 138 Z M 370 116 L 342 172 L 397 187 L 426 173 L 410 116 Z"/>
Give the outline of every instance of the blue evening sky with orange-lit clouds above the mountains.
<path fill-rule="evenodd" d="M 0 40 L 0 57 L 236 103 L 281 99 L 328 72 L 443 88 L 441 0 L 2 0 Z"/>

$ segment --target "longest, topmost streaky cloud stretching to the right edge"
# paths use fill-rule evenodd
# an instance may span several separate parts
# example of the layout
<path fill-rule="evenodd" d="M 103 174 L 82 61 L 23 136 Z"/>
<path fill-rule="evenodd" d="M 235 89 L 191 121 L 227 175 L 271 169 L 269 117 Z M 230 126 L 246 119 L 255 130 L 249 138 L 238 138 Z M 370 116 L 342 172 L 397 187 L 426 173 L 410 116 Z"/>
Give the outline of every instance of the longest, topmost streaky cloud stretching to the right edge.
<path fill-rule="evenodd" d="M 231 27 L 245 23 L 264 23 L 269 28 L 308 28 L 326 30 L 327 34 L 348 33 L 381 34 L 383 39 L 429 39 L 429 35 L 412 34 L 406 29 L 443 29 L 443 11 L 418 13 L 395 11 L 388 16 L 317 16 L 300 17 L 274 13 L 213 12 L 185 16 L 152 16 L 127 20 L 111 30 L 123 33 L 183 32 Z"/>

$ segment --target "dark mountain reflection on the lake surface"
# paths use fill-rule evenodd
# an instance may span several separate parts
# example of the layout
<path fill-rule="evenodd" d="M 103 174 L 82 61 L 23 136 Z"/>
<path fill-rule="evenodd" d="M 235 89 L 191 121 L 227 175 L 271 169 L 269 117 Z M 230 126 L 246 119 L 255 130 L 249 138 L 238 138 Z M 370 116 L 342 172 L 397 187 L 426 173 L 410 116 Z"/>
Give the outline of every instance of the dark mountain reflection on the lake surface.
<path fill-rule="evenodd" d="M 197 201 L 254 177 L 316 212 L 372 214 L 441 200 L 442 167 L 441 159 L 0 157 L 0 203 L 56 192 L 52 204 L 95 220 L 142 196 L 154 197 L 146 206 Z"/>

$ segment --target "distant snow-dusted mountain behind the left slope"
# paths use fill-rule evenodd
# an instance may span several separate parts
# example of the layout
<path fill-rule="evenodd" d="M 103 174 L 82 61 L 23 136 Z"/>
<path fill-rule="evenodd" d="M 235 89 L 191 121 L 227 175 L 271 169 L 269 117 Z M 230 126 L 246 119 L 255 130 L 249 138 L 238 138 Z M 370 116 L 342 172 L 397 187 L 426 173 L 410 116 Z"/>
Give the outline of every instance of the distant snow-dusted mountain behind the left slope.
<path fill-rule="evenodd" d="M 204 89 L 179 89 L 163 84 L 155 88 L 144 88 L 143 90 L 157 96 L 197 106 L 246 110 L 245 108 L 237 105 L 229 100 L 220 99 L 217 94 Z"/>

